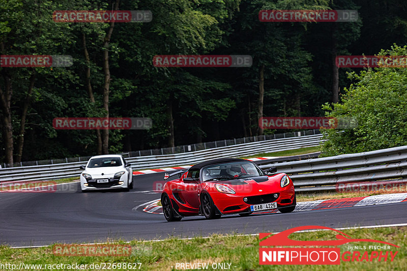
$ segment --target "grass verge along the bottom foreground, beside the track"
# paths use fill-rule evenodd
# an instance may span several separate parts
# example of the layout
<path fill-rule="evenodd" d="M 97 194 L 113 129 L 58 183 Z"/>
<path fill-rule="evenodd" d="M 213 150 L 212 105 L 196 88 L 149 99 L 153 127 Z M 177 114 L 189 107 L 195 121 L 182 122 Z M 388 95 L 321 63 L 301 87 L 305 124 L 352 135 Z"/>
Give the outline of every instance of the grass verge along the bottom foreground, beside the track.
<path fill-rule="evenodd" d="M 0 261 L 2 264 L 12 263 L 17 266 L 24 264 L 88 264 L 92 263 L 141 263 L 141 270 L 176 270 L 177 263 L 209 263 L 208 270 L 214 270 L 213 263 L 230 263 L 230 270 L 405 270 L 407 266 L 407 227 L 384 227 L 365 229 L 341 230 L 354 239 L 374 239 L 386 241 L 397 246 L 390 247 L 390 251 L 398 251 L 394 261 L 372 262 L 341 260 L 340 265 L 259 265 L 258 235 L 212 235 L 210 238 L 196 237 L 190 240 L 167 239 L 159 242 L 131 241 L 131 255 L 127 257 L 78 257 L 56 256 L 52 253 L 52 246 L 32 249 L 11 249 L 0 247 Z M 333 231 L 315 231 L 294 233 L 290 235 L 293 240 L 315 241 L 336 240 Z M 118 242 L 124 244 L 124 242 Z M 361 254 L 373 249 L 369 246 L 382 245 L 379 243 L 357 242 L 339 246 L 341 254 L 350 250 L 348 247 L 366 246 L 366 249 L 355 249 Z M 378 251 L 375 249 L 374 251 Z M 172 266 L 172 267 L 171 267 Z M 226 266 L 228 266 L 226 264 Z M 235 267 L 236 266 L 236 267 Z M 32 268 L 31 270 L 33 270 Z M 94 268 L 95 269 L 95 268 Z M 128 268 L 126 268 L 127 270 Z M 30 270 L 30 269 L 26 269 Z M 55 269 L 62 270 L 62 269 Z M 93 270 L 87 268 L 84 270 Z M 116 268 L 116 270 L 125 270 Z"/>

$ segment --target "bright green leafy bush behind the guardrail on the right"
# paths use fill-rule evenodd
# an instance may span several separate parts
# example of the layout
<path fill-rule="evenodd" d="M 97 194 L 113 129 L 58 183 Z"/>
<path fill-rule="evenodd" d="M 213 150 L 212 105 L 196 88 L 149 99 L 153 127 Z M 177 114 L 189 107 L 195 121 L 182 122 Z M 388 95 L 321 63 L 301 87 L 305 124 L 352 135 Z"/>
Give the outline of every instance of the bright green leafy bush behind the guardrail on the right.
<path fill-rule="evenodd" d="M 378 55 L 407 55 L 407 46 L 394 45 Z M 360 74 L 348 74 L 355 80 L 345 89 L 342 103 L 325 104 L 327 117 L 353 117 L 354 129 L 322 130 L 328 139 L 324 155 L 365 152 L 407 145 L 407 69 L 377 67 Z"/>

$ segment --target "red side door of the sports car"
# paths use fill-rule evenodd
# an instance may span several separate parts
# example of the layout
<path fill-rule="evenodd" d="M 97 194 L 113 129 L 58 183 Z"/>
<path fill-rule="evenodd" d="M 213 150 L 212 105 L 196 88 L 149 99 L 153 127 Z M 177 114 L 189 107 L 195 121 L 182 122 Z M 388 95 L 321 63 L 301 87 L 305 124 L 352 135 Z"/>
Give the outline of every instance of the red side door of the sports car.
<path fill-rule="evenodd" d="M 178 185 L 178 193 L 181 196 L 181 199 L 185 204 L 189 205 L 192 208 L 199 208 L 199 199 L 198 199 L 198 185 L 199 185 L 199 171 L 191 171 L 184 175 L 186 178 L 193 178 L 196 181 L 184 181 L 182 178 Z M 184 177 L 183 176 L 183 177 Z"/>

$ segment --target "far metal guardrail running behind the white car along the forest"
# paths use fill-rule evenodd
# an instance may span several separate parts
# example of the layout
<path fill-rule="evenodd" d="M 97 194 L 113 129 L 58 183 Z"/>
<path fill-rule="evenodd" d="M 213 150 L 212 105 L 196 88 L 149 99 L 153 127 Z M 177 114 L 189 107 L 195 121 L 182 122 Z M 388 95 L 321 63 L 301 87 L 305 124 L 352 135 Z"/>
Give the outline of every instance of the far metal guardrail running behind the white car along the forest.
<path fill-rule="evenodd" d="M 314 147 L 319 145 L 322 141 L 322 137 L 322 134 L 316 134 L 312 136 L 237 144 L 187 153 L 130 157 L 126 158 L 126 161 L 132 163 L 133 170 L 139 170 L 141 168 L 190 165 L 214 158 L 247 156 L 261 152 L 275 152 Z M 82 172 L 82 170 L 79 169 L 79 166 L 85 165 L 86 162 L 87 161 L 2 168 L 0 169 L 0 182 L 55 180 L 79 177 L 79 174 Z"/>

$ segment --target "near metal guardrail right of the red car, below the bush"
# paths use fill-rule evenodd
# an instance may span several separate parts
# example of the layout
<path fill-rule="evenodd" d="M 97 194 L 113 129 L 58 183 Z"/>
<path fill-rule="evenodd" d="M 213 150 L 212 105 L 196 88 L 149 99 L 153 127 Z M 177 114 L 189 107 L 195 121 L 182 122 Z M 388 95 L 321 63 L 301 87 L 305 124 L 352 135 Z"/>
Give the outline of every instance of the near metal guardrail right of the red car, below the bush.
<path fill-rule="evenodd" d="M 301 161 L 268 163 L 286 173 L 298 192 L 335 191 L 340 184 L 407 177 L 407 146 Z"/>

